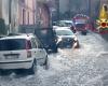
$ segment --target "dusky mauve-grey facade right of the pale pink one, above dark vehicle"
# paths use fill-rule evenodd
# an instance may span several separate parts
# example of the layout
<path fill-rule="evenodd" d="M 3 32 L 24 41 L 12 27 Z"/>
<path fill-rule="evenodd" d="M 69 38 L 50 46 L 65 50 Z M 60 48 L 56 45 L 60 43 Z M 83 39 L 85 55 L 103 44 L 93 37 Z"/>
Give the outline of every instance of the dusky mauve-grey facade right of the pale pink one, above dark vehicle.
<path fill-rule="evenodd" d="M 49 28 L 51 12 L 50 5 L 46 1 L 37 0 L 37 22 L 40 28 Z"/>

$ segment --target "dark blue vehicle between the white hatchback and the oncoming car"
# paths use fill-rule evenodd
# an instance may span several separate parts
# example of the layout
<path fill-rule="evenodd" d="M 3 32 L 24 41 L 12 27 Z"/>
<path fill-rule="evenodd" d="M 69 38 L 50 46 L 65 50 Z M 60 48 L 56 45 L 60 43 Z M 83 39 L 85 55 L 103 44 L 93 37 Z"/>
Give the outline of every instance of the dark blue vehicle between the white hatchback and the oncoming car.
<path fill-rule="evenodd" d="M 39 28 L 35 30 L 46 52 L 57 53 L 56 37 L 52 28 Z"/>

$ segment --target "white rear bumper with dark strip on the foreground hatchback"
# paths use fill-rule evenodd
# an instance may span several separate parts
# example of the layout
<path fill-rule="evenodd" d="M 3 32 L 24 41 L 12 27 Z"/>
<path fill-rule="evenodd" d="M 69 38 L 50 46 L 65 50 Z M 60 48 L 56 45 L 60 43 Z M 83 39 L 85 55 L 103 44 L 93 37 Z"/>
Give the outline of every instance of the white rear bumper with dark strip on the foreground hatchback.
<path fill-rule="evenodd" d="M 32 66 L 32 60 L 26 61 L 12 61 L 12 62 L 0 62 L 0 69 L 29 69 Z"/>

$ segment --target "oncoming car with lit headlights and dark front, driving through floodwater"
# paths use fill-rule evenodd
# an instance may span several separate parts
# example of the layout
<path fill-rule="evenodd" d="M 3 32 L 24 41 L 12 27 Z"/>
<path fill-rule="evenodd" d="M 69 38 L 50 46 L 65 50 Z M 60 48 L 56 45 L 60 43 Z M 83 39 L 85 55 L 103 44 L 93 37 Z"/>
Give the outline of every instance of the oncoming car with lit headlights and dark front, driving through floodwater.
<path fill-rule="evenodd" d="M 77 35 L 70 29 L 54 29 L 57 37 L 58 47 L 79 47 Z"/>

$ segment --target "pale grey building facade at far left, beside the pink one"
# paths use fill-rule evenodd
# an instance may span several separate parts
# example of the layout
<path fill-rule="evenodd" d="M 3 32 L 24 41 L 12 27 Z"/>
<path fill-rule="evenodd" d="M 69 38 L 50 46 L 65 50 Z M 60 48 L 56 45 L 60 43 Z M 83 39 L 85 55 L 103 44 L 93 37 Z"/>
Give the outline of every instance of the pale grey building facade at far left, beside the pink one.
<path fill-rule="evenodd" d="M 17 6 L 17 0 L 0 0 L 0 18 L 4 20 L 8 32 L 16 31 Z"/>

